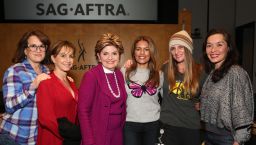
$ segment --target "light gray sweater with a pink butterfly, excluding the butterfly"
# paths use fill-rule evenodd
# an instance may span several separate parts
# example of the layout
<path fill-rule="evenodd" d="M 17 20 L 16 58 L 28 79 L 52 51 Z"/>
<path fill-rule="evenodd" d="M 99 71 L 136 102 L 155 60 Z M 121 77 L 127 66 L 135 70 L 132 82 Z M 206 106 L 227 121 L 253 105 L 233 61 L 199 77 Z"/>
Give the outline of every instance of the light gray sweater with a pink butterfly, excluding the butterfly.
<path fill-rule="evenodd" d="M 121 69 L 125 76 L 125 68 Z M 137 68 L 136 73 L 131 76 L 131 80 L 139 85 L 143 85 L 149 78 L 149 69 Z M 163 74 L 160 73 L 160 84 L 157 88 L 157 92 L 154 95 L 149 95 L 144 92 L 141 97 L 134 97 L 131 93 L 133 89 L 130 89 L 126 83 L 125 88 L 127 92 L 127 116 L 126 121 L 147 123 L 157 121 L 160 116 L 160 104 L 158 103 L 158 93 L 161 91 L 163 83 Z"/>

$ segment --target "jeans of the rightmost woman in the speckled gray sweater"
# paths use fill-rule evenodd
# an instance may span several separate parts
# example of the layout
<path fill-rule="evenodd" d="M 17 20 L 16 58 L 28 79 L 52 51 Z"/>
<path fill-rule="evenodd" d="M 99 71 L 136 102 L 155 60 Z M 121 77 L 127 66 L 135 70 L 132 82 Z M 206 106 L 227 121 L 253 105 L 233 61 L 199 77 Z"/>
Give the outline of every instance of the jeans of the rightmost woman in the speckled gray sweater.
<path fill-rule="evenodd" d="M 205 132 L 205 145 L 233 145 L 232 135 L 220 135 L 213 132 Z"/>

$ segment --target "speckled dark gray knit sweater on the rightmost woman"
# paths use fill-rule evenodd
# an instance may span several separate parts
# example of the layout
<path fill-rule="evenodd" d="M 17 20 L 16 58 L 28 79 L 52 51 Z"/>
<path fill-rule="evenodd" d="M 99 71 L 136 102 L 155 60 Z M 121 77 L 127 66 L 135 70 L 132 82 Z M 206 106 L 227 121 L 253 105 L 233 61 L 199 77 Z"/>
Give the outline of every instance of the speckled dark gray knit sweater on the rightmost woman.
<path fill-rule="evenodd" d="M 250 138 L 253 123 L 253 89 L 247 72 L 234 65 L 217 83 L 206 79 L 201 92 L 201 120 L 226 128 L 234 140 L 243 143 Z M 246 127 L 246 128 L 245 128 Z"/>

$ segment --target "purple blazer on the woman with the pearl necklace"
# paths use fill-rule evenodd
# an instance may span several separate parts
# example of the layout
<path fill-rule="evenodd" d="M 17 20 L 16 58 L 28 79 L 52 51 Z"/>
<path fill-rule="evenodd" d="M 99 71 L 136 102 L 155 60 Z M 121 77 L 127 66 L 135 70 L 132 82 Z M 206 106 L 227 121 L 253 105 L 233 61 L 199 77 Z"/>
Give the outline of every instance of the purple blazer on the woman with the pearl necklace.
<path fill-rule="evenodd" d="M 115 70 L 120 93 L 124 104 L 122 106 L 122 127 L 126 118 L 125 82 L 119 69 Z M 102 64 L 87 71 L 82 79 L 78 97 L 78 117 L 81 127 L 83 145 L 104 145 L 109 120 L 111 94 L 105 78 Z M 122 140 L 122 138 L 117 138 Z"/>

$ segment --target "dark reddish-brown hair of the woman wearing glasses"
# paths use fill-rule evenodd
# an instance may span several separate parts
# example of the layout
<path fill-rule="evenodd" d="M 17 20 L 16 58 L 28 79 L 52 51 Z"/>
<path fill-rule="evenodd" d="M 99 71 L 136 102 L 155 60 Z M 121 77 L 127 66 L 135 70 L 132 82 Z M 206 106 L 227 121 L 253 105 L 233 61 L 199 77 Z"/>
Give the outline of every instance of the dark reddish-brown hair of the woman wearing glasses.
<path fill-rule="evenodd" d="M 12 58 L 13 63 L 22 62 L 26 58 L 24 50 L 28 47 L 28 39 L 31 36 L 36 36 L 47 47 L 49 47 L 51 44 L 48 36 L 45 35 L 43 32 L 39 30 L 28 31 L 25 34 L 23 34 L 23 36 L 21 37 L 21 39 L 17 44 L 16 52 L 14 54 L 14 57 Z M 46 54 L 45 56 L 47 56 L 48 49 L 46 50 L 45 54 Z M 45 63 L 46 63 L 46 59 L 42 61 L 42 64 L 45 64 Z"/>

